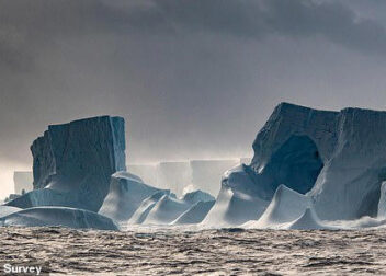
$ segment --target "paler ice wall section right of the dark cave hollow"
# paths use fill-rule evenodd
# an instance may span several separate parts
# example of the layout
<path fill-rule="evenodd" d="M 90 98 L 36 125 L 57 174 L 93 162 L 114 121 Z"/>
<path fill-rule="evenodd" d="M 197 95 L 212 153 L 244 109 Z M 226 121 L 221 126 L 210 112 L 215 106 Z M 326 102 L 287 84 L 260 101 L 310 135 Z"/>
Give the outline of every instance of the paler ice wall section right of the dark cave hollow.
<path fill-rule="evenodd" d="M 386 112 L 345 108 L 337 117 L 333 156 L 309 193 L 321 219 L 377 215 L 386 180 Z"/>

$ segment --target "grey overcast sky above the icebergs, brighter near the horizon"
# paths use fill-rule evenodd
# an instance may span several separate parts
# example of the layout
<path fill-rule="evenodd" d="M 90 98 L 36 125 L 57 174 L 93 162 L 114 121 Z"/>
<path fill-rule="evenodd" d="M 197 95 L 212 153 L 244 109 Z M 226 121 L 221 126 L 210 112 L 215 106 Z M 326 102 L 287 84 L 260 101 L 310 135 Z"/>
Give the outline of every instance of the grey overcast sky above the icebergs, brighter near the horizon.
<path fill-rule="evenodd" d="M 251 156 L 283 101 L 386 110 L 383 0 L 1 0 L 0 198 L 49 124 L 111 114 L 129 162 Z"/>

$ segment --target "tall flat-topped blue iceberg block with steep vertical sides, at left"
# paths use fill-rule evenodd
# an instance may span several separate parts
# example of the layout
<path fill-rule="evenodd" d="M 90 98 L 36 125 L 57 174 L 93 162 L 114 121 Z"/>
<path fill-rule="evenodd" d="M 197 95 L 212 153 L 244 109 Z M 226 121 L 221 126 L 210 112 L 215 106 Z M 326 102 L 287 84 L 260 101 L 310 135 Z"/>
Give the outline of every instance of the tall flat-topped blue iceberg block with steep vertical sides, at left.
<path fill-rule="evenodd" d="M 109 192 L 110 176 L 126 170 L 124 119 L 101 116 L 48 127 L 32 147 L 34 189 L 47 188 L 42 197 L 33 191 L 11 206 L 29 208 L 38 205 L 29 197 L 39 197 L 39 205 L 61 205 L 98 211 Z M 35 192 L 35 193 L 34 193 Z M 60 203 L 46 194 L 66 194 Z M 67 198 L 72 198 L 66 203 Z M 76 203 L 73 198 L 77 198 Z M 48 199 L 45 204 L 43 199 Z"/>

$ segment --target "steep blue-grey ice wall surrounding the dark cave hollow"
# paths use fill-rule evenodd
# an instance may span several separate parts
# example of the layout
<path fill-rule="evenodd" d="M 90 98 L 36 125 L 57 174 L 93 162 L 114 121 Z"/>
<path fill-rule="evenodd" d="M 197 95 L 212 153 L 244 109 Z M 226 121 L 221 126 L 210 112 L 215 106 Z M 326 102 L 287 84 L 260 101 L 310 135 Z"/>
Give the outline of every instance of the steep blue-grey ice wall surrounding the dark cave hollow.
<path fill-rule="evenodd" d="M 376 216 L 381 183 L 386 180 L 385 129 L 386 112 L 360 108 L 328 112 L 280 104 L 253 142 L 251 169 L 256 175 L 254 183 L 258 186 L 266 184 L 266 180 L 262 180 L 261 184 L 259 177 L 264 175 L 272 165 L 273 157 L 292 137 L 308 137 L 315 147 L 306 148 L 317 149 L 323 164 L 314 187 L 308 192 L 318 217 L 323 220 L 347 220 Z M 306 148 L 302 150 L 311 153 Z M 280 160 L 283 161 L 282 158 Z M 308 168 L 307 171 L 311 172 L 309 168 L 316 168 L 317 163 L 299 168 Z M 276 169 L 272 172 L 282 174 Z M 316 174 L 316 170 L 314 172 Z M 299 193 L 309 188 L 309 185 L 296 185 L 296 181 L 292 180 L 305 175 L 304 172 L 287 175 L 283 177 L 287 181 L 280 184 Z"/>

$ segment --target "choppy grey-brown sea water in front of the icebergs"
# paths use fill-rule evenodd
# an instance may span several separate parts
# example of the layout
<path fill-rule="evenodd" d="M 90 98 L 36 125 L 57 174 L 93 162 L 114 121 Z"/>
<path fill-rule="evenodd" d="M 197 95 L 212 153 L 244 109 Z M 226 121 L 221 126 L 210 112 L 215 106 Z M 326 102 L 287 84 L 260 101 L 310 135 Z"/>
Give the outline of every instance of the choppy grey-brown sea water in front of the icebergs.
<path fill-rule="evenodd" d="M 0 263 L 52 275 L 386 275 L 386 230 L 0 228 Z"/>

